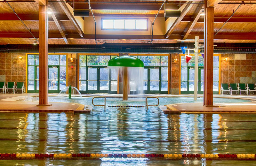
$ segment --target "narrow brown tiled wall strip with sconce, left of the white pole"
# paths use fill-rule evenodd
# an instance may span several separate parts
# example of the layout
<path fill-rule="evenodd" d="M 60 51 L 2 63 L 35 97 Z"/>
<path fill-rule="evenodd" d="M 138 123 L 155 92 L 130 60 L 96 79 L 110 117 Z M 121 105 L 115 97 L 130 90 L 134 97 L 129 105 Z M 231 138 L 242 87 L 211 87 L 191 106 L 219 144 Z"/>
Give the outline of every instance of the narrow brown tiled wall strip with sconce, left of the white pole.
<path fill-rule="evenodd" d="M 177 63 L 174 59 L 177 58 Z M 180 88 L 180 56 L 179 54 L 171 54 L 171 94 L 179 94 Z"/>

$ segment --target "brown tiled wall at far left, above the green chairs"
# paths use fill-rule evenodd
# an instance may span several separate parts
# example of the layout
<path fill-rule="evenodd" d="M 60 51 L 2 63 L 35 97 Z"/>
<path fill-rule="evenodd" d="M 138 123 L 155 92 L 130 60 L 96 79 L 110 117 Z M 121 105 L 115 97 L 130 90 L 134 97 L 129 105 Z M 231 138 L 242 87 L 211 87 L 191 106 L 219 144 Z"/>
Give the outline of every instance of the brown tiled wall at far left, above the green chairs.
<path fill-rule="evenodd" d="M 20 60 L 19 57 L 23 59 Z M 26 54 L 0 53 L 0 81 L 24 82 L 26 81 Z"/>

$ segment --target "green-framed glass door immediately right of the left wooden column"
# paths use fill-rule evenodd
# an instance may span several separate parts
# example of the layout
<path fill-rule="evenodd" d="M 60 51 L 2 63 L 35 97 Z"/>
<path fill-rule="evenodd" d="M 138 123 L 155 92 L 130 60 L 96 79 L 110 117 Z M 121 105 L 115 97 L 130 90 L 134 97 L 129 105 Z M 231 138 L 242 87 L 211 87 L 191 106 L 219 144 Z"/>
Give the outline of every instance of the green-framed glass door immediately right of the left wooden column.
<path fill-rule="evenodd" d="M 48 92 L 59 93 L 59 67 L 49 66 L 48 67 Z"/>

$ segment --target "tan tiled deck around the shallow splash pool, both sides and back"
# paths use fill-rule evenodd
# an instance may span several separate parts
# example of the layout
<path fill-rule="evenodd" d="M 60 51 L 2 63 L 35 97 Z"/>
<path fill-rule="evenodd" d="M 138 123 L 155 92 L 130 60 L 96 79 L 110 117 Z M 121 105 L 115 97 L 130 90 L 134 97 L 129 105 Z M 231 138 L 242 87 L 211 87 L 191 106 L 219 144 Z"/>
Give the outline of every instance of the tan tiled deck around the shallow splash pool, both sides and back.
<path fill-rule="evenodd" d="M 30 97 L 38 94 L 29 94 Z M 0 112 L 84 112 L 90 113 L 92 106 L 78 103 L 50 102 L 52 106 L 36 106 L 38 102 L 24 102 L 28 94 L 0 94 Z M 57 96 L 57 94 L 49 94 Z M 83 94 L 86 97 L 106 96 L 122 97 L 122 94 Z M 128 97 L 193 97 L 193 95 L 168 95 L 168 94 L 141 94 L 128 95 Z M 198 95 L 202 97 L 203 95 Z M 180 113 L 256 113 L 256 95 L 214 95 L 214 97 L 248 99 L 252 102 L 244 103 L 214 103 L 214 107 L 203 106 L 202 103 L 177 103 L 160 106 L 166 114 Z"/>

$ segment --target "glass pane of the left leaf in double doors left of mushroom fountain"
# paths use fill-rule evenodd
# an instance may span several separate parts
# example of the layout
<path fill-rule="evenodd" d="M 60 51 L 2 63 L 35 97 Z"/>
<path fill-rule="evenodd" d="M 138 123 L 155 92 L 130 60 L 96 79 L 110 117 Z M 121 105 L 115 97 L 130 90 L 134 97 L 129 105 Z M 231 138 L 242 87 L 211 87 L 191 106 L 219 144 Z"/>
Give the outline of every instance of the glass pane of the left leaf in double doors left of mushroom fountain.
<path fill-rule="evenodd" d="M 97 74 L 97 68 L 88 67 L 88 92 L 91 91 L 91 93 L 97 93 Z"/>

